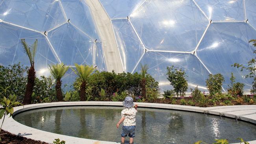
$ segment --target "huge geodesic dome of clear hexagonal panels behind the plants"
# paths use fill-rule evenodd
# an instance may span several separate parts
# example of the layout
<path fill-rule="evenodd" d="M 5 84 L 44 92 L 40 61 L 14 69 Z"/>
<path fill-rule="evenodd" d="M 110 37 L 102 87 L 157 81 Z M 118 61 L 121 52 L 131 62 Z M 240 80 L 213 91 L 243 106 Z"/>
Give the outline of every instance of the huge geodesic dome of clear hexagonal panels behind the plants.
<path fill-rule="evenodd" d="M 28 65 L 19 39 L 39 39 L 38 74 L 60 62 L 116 72 L 147 64 L 160 88 L 171 89 L 166 67 L 174 65 L 189 88 L 207 91 L 208 75 L 221 73 L 226 90 L 233 72 L 249 91 L 248 72 L 231 65 L 254 57 L 255 7 L 255 0 L 2 0 L 0 63 Z M 73 79 L 70 71 L 63 81 Z"/>

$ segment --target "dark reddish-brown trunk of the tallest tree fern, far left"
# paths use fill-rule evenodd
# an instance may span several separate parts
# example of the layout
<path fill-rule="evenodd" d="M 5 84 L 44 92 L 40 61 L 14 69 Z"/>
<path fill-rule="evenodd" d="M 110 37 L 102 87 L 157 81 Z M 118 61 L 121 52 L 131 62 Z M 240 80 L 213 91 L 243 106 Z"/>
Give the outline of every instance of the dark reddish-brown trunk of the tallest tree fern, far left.
<path fill-rule="evenodd" d="M 23 104 L 31 104 L 32 101 L 32 92 L 33 92 L 33 87 L 35 85 L 35 68 L 34 64 L 30 67 L 28 70 L 28 83 L 26 85 L 26 91 L 23 99 Z"/>

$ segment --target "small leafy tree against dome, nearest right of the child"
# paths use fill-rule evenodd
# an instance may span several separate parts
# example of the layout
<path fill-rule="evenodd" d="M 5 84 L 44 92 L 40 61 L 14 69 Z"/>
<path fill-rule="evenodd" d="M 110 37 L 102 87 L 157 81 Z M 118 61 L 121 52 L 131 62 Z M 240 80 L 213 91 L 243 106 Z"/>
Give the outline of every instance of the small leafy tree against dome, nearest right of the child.
<path fill-rule="evenodd" d="M 174 91 L 178 95 L 182 96 L 187 91 L 187 80 L 185 78 L 186 72 L 181 68 L 174 68 L 174 66 L 167 66 L 167 79 L 170 81 L 170 85 L 173 86 Z"/>

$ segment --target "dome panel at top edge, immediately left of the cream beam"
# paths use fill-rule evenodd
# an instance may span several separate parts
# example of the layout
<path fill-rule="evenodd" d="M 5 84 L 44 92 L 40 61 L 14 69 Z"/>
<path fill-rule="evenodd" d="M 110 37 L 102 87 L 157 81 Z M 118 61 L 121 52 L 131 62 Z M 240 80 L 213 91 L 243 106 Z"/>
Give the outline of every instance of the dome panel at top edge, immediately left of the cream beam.
<path fill-rule="evenodd" d="M 61 4 L 71 24 L 86 33 L 91 39 L 99 40 L 90 8 L 85 4 L 85 1 L 61 0 Z"/>

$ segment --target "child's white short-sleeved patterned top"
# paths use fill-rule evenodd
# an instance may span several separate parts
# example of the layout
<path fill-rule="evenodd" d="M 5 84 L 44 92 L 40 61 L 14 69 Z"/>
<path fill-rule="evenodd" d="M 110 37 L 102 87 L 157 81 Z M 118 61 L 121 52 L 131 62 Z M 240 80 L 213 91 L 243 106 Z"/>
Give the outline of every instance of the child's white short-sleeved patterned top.
<path fill-rule="evenodd" d="M 123 126 L 136 126 L 135 116 L 137 110 L 134 107 L 122 110 L 121 116 L 124 117 Z"/>

